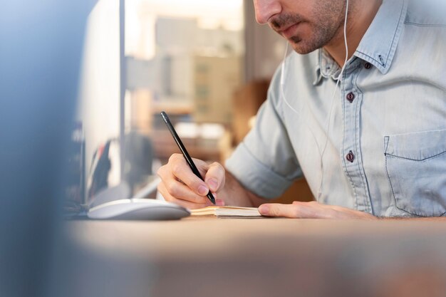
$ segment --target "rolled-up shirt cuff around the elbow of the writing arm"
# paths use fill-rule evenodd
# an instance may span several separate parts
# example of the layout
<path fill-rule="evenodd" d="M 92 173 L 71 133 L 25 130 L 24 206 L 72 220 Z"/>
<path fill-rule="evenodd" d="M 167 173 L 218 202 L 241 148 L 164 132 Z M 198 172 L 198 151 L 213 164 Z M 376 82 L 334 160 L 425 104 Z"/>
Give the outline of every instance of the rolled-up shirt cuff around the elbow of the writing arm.
<path fill-rule="evenodd" d="M 293 183 L 257 160 L 243 142 L 226 160 L 225 167 L 243 187 L 266 199 L 279 197 Z"/>

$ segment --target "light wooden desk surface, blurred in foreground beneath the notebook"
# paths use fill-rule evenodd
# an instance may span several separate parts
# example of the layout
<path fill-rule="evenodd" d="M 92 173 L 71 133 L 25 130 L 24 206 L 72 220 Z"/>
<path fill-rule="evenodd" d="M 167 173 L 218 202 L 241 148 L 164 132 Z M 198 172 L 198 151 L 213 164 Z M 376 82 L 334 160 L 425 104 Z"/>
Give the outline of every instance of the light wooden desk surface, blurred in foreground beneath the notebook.
<path fill-rule="evenodd" d="M 72 286 L 98 287 L 76 296 L 446 296 L 445 223 L 207 217 L 66 227 L 76 250 L 68 266 L 89 276 Z"/>

